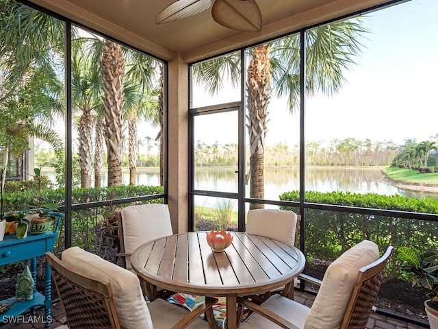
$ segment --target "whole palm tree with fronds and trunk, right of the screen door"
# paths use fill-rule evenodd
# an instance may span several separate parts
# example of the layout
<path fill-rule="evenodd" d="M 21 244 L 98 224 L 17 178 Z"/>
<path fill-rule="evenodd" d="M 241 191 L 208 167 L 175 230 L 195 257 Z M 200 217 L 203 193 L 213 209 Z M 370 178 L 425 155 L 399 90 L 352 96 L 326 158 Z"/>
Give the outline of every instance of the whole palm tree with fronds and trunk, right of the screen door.
<path fill-rule="evenodd" d="M 344 69 L 354 64 L 361 51 L 359 36 L 368 32 L 361 21 L 351 19 L 306 32 L 306 93 L 336 93 L 344 82 Z M 298 109 L 300 96 L 300 37 L 281 38 L 250 49 L 246 80 L 247 120 L 250 147 L 250 197 L 263 198 L 264 148 L 268 104 L 272 90 L 287 96 L 289 111 Z M 231 53 L 193 66 L 194 80 L 215 93 L 224 79 L 240 81 L 240 58 Z M 263 208 L 251 204 L 250 208 Z"/>

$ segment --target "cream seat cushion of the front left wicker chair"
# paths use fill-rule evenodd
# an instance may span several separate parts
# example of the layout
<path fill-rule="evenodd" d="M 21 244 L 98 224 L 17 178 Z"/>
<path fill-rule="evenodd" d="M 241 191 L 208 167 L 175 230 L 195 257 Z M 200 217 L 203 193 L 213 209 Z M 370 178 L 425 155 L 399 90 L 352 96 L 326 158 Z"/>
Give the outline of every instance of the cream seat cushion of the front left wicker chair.
<path fill-rule="evenodd" d="M 172 328 L 180 319 L 188 315 L 189 311 L 183 306 L 172 304 L 158 298 L 148 304 L 149 312 L 151 312 L 153 329 L 169 329 Z M 139 329 L 142 327 L 138 327 Z M 195 319 L 188 329 L 209 329 L 207 321 L 198 317 Z"/>

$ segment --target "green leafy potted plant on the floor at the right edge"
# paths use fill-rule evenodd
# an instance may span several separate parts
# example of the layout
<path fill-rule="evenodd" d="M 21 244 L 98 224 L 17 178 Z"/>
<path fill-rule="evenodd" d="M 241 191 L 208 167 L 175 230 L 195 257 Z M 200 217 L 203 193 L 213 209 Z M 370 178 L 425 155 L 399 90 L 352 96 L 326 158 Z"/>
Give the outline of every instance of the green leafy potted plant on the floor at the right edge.
<path fill-rule="evenodd" d="M 438 329 L 438 252 L 418 252 L 412 247 L 399 247 L 398 258 L 402 260 L 402 271 L 414 286 L 429 289 L 424 308 L 430 329 Z"/>

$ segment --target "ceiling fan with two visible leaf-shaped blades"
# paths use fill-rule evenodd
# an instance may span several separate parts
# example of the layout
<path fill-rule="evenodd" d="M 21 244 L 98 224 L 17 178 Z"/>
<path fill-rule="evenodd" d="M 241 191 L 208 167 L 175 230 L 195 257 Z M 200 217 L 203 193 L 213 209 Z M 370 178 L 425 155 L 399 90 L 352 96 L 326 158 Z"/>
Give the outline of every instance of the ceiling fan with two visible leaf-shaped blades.
<path fill-rule="evenodd" d="M 177 0 L 155 17 L 155 24 L 163 24 L 193 16 L 211 8 L 216 23 L 243 32 L 261 30 L 261 12 L 255 0 Z"/>

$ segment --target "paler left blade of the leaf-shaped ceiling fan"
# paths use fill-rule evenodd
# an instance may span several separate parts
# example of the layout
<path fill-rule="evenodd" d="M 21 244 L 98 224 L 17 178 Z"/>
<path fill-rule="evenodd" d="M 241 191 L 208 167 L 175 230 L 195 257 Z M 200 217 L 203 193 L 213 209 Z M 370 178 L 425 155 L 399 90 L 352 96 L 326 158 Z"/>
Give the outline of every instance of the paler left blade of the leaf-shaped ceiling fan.
<path fill-rule="evenodd" d="M 155 17 L 155 24 L 163 24 L 203 12 L 211 5 L 211 0 L 177 0 L 168 5 Z"/>

